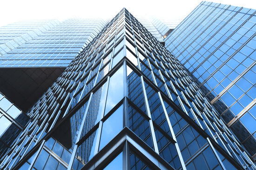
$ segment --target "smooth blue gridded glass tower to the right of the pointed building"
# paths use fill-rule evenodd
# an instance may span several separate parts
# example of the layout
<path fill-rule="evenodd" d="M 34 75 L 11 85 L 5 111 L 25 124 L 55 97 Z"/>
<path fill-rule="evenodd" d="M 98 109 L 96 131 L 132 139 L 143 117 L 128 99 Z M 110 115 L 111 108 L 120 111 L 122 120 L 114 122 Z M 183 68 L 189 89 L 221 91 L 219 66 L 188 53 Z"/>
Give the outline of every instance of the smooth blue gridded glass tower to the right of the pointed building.
<path fill-rule="evenodd" d="M 165 39 L 256 159 L 256 10 L 203 1 Z"/>

